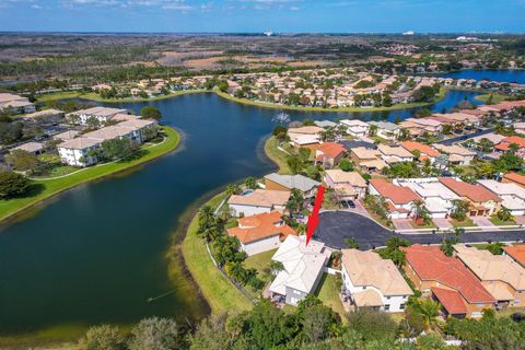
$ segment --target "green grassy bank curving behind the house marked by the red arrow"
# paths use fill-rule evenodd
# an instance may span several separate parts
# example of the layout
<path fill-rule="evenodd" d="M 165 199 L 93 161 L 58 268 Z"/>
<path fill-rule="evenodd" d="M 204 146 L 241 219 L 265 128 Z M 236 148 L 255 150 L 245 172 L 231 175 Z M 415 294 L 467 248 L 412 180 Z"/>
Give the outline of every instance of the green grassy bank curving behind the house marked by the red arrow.
<path fill-rule="evenodd" d="M 217 208 L 225 194 L 213 197 L 208 205 Z M 252 303 L 215 268 L 206 244 L 197 235 L 198 218 L 195 214 L 183 242 L 183 256 L 188 270 L 200 288 L 213 314 L 249 310 Z"/>

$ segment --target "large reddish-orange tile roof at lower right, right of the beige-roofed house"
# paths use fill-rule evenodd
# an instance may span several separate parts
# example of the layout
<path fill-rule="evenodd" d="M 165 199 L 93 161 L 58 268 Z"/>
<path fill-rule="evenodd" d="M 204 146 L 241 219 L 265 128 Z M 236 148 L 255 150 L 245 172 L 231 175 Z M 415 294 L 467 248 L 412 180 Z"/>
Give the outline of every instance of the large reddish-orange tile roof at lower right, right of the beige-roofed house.
<path fill-rule="evenodd" d="M 436 281 L 459 292 L 468 303 L 491 303 L 494 298 L 463 262 L 447 257 L 438 246 L 402 247 L 407 262 L 423 281 Z"/>

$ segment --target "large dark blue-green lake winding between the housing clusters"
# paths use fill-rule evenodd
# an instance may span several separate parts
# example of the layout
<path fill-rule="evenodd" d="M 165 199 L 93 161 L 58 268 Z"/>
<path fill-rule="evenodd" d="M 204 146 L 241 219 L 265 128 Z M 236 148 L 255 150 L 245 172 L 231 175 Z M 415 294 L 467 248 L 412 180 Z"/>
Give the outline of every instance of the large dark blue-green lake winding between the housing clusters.
<path fill-rule="evenodd" d="M 432 108 L 448 109 L 474 96 L 453 91 Z M 145 104 L 119 106 L 138 113 Z M 168 277 L 165 255 L 172 232 L 205 194 L 275 170 L 262 144 L 279 110 L 214 94 L 150 104 L 162 110 L 162 122 L 184 131 L 178 151 L 128 174 L 80 186 L 30 218 L 0 226 L 0 334 L 207 314 L 206 303 L 180 271 Z M 413 110 L 289 114 L 293 120 L 394 120 Z"/>

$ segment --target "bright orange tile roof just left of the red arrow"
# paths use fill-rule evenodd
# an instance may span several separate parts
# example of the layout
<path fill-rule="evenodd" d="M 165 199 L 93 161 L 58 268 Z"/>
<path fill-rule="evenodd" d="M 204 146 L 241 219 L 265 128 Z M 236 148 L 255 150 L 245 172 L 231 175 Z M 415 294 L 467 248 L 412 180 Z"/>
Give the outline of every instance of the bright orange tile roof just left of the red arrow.
<path fill-rule="evenodd" d="M 284 241 L 289 234 L 298 235 L 292 228 L 282 224 L 281 214 L 277 211 L 238 219 L 238 228 L 226 230 L 228 234 L 235 236 L 242 243 L 252 243 L 279 235 Z"/>

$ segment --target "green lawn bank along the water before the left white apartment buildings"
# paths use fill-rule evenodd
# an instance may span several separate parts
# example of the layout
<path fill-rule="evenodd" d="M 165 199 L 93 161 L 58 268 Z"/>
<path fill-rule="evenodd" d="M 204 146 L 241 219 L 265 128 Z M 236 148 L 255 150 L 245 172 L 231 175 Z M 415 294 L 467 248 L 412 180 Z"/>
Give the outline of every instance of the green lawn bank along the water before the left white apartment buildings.
<path fill-rule="evenodd" d="M 163 127 L 162 129 L 166 135 L 164 141 L 159 144 L 143 148 L 143 154 L 138 159 L 88 167 L 83 171 L 60 178 L 35 180 L 31 194 L 27 197 L 0 200 L 0 221 L 69 188 L 131 168 L 173 151 L 177 148 L 180 141 L 180 136 L 172 128 Z"/>

